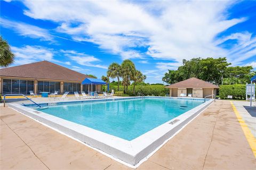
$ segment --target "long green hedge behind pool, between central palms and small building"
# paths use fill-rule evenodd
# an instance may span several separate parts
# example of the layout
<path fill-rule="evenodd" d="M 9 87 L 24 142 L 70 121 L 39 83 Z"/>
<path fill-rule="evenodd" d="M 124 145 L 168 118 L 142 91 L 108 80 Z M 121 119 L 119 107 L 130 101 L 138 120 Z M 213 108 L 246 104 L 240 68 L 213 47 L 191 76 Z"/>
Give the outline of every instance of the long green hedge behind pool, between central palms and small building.
<path fill-rule="evenodd" d="M 110 86 L 109 90 L 114 89 L 117 91 L 117 86 Z M 105 87 L 102 87 L 102 91 L 105 91 Z M 124 86 L 119 86 L 119 91 L 124 91 Z M 135 96 L 141 92 L 145 96 L 165 96 L 169 94 L 169 89 L 164 88 L 163 85 L 148 85 L 148 86 L 135 86 Z M 126 94 L 133 95 L 133 86 L 128 86 Z"/>

